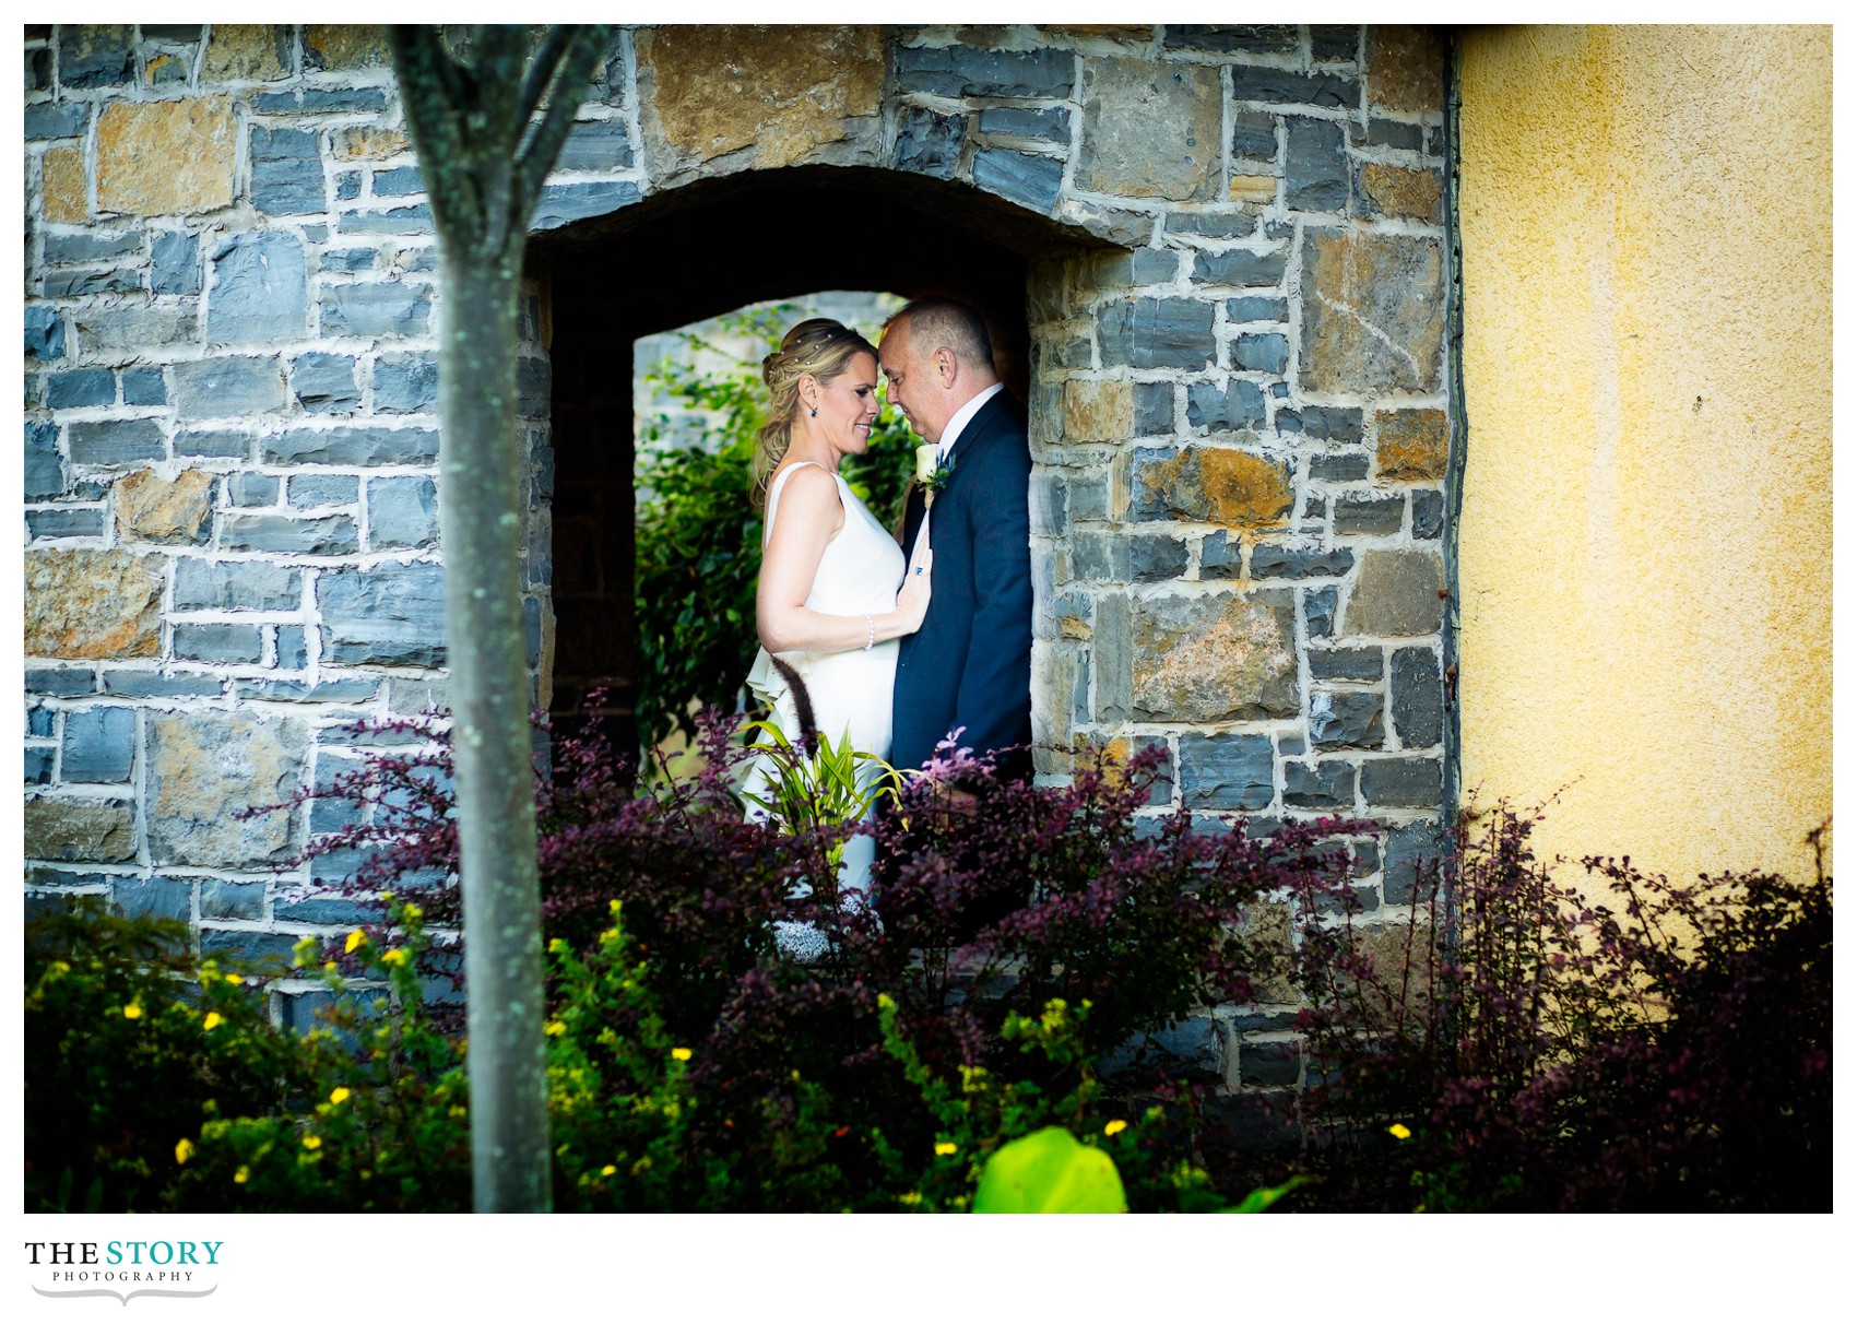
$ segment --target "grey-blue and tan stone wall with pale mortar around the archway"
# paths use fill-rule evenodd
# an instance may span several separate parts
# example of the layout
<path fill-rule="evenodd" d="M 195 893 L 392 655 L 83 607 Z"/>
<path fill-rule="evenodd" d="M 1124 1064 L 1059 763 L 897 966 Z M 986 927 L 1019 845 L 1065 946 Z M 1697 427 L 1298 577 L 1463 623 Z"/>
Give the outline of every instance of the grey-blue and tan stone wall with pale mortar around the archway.
<path fill-rule="evenodd" d="M 26 32 L 33 886 L 284 949 L 342 923 L 267 871 L 314 824 L 217 806 L 442 694 L 418 167 L 370 30 Z M 706 215 L 825 169 L 1025 254 L 1040 737 L 1159 743 L 1207 821 L 1378 819 L 1361 888 L 1398 906 L 1445 793 L 1443 59 L 1382 28 L 626 30 L 537 227 L 622 245 L 680 189 Z M 539 689 L 574 251 L 524 366 Z M 802 247 L 758 260 L 815 288 Z M 1179 1032 L 1278 1088 L 1287 1016 Z"/>

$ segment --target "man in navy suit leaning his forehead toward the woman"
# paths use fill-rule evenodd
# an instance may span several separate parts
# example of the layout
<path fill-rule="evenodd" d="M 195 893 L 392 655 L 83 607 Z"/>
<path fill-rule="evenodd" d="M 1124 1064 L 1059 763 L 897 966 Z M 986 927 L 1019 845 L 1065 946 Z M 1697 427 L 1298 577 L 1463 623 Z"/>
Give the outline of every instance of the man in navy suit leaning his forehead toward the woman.
<path fill-rule="evenodd" d="M 897 654 L 890 761 L 921 767 L 960 728 L 962 748 L 982 758 L 1003 750 L 1001 772 L 1031 776 L 1025 422 L 993 371 L 986 323 L 964 303 L 906 305 L 884 325 L 878 360 L 891 403 L 940 446 L 938 490 L 917 483 L 903 518 L 904 555 L 917 535 L 934 550 L 934 592 L 921 630 L 904 635 Z"/>

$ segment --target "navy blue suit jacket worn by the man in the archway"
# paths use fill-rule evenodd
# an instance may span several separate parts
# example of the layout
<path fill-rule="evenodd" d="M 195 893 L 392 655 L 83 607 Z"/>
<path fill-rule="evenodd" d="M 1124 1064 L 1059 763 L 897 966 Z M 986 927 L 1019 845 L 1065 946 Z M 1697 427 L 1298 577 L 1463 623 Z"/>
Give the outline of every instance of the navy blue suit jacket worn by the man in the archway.
<path fill-rule="evenodd" d="M 934 592 L 923 628 L 897 652 L 890 761 L 921 767 L 956 726 L 975 754 L 1032 739 L 1032 459 L 1025 422 L 993 396 L 954 440 L 953 474 L 934 498 Z M 903 552 L 916 548 L 923 492 L 910 496 Z M 1001 761 L 1029 772 L 1031 756 Z"/>

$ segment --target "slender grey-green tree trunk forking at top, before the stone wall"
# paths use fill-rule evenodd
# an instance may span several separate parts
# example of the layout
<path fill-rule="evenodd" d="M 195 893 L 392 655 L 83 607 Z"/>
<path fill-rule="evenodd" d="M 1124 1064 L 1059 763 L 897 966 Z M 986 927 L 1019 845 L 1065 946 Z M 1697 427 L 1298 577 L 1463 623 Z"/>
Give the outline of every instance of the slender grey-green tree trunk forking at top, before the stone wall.
<path fill-rule="evenodd" d="M 461 61 L 436 28 L 388 30 L 440 253 L 438 535 L 479 1213 L 552 1203 L 516 308 L 527 221 L 605 35 L 552 28 L 527 58 L 527 30 L 475 26 Z"/>

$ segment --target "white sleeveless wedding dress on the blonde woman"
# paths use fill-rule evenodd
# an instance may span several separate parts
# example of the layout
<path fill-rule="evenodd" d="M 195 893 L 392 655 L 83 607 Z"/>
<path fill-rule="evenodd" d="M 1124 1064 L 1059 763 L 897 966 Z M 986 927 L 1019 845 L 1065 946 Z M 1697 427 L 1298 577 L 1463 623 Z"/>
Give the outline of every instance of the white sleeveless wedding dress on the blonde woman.
<path fill-rule="evenodd" d="M 773 537 L 780 513 L 780 492 L 786 488 L 787 477 L 808 464 L 812 461 L 791 464 L 774 475 L 767 490 L 763 550 L 767 539 Z M 812 466 L 825 468 L 823 464 Z M 830 474 L 830 470 L 826 472 Z M 858 500 L 845 479 L 832 474 L 832 481 L 838 483 L 838 500 L 845 505 L 845 527 L 826 544 L 806 605 L 832 617 L 875 617 L 895 611 L 897 585 L 903 583 L 904 570 L 903 548 L 877 522 L 877 516 Z M 851 739 L 852 748 L 860 754 L 890 758 L 890 704 L 897 678 L 895 639 L 871 648 L 849 648 L 836 654 L 784 652 L 778 657 L 806 681 L 813 720 L 821 735 L 830 737 L 834 745 Z M 756 654 L 754 667 L 748 670 L 748 689 L 773 711 L 773 720 L 787 739 L 799 745 L 799 706 L 765 648 Z M 763 793 L 767 772 L 767 758 L 756 758 L 748 767 L 743 791 Z M 875 763 L 867 765 L 864 784 L 871 785 L 878 774 L 880 769 Z M 750 817 L 760 815 L 761 810 L 750 806 Z M 875 858 L 877 843 L 871 837 L 858 836 L 845 843 L 845 858 L 838 871 L 839 897 L 869 893 Z M 774 928 L 782 949 L 800 960 L 810 960 L 825 949 L 825 938 L 812 925 L 782 921 Z"/>

